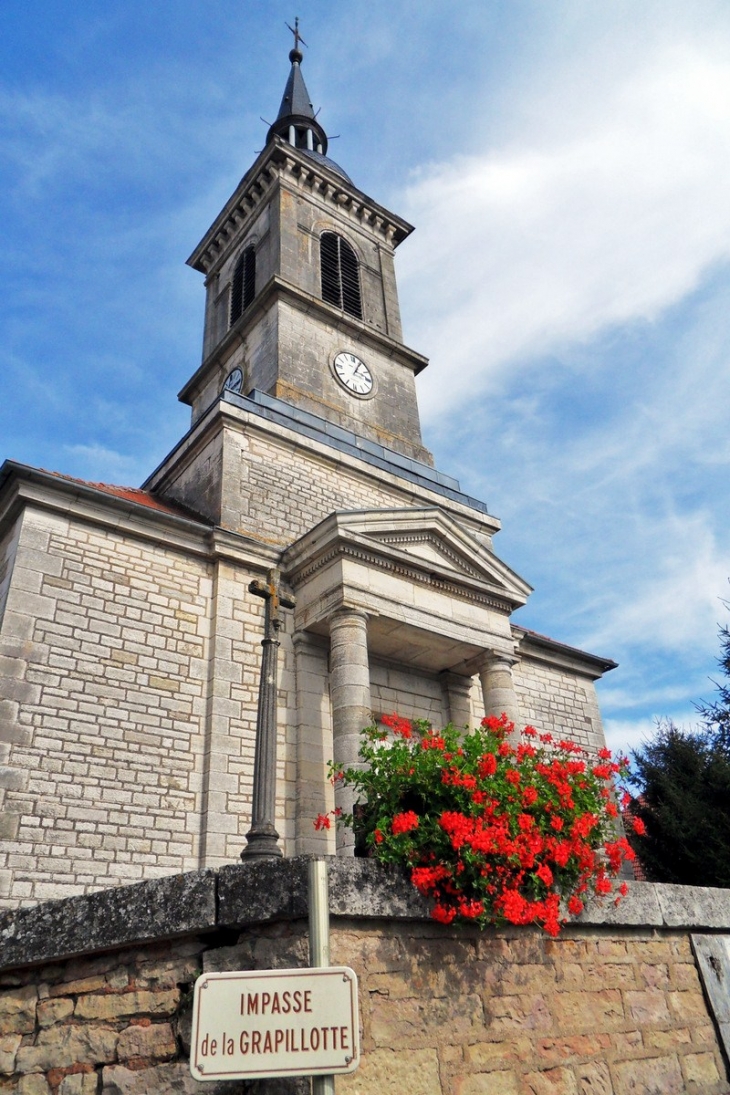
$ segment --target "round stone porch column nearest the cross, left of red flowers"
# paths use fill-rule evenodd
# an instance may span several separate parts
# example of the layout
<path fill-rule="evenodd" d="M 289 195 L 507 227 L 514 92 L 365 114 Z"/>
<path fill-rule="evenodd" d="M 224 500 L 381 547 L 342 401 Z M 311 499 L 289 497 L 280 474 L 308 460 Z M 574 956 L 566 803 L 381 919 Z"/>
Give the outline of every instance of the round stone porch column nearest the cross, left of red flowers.
<path fill-rule="evenodd" d="M 336 763 L 358 763 L 360 731 L 371 721 L 368 616 L 357 609 L 340 609 L 329 621 L 329 698 L 332 701 L 333 752 Z M 335 787 L 335 805 L 352 810 L 355 792 Z M 355 837 L 338 829 L 337 854 L 352 855 Z"/>

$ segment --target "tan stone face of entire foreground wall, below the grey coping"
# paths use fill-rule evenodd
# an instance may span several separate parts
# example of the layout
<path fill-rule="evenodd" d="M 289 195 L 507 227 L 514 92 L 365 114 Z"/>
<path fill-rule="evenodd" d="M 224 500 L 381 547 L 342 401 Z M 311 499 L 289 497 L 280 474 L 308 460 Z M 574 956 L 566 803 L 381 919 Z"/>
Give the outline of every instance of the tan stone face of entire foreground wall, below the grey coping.
<path fill-rule="evenodd" d="M 332 961 L 360 982 L 361 1065 L 337 1079 L 341 1095 L 730 1091 L 683 931 L 576 927 L 553 941 L 532 929 L 335 920 Z M 303 965 L 294 921 L 0 975 L 0 1092 L 204 1091 L 187 1064 L 196 977 Z"/>

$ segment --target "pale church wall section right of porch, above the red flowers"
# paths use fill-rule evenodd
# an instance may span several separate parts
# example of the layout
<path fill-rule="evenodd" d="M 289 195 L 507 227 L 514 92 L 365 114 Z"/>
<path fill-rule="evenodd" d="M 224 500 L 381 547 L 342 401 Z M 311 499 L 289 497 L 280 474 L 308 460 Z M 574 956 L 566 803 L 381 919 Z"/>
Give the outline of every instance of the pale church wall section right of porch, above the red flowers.
<path fill-rule="evenodd" d="M 593 681 L 528 658 L 514 667 L 513 675 L 524 723 L 570 738 L 586 749 L 605 746 Z"/>

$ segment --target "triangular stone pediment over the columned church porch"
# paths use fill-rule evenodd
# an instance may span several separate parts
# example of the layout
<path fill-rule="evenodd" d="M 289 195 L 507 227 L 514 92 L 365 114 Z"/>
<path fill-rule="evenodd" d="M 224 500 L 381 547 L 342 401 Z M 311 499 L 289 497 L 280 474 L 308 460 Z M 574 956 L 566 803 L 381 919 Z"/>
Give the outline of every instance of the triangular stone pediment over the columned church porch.
<path fill-rule="evenodd" d="M 286 553 L 285 568 L 303 573 L 315 557 L 343 551 L 374 565 L 445 583 L 454 593 L 482 591 L 509 610 L 524 604 L 531 587 L 466 528 L 438 507 L 350 510 L 333 514 Z"/>

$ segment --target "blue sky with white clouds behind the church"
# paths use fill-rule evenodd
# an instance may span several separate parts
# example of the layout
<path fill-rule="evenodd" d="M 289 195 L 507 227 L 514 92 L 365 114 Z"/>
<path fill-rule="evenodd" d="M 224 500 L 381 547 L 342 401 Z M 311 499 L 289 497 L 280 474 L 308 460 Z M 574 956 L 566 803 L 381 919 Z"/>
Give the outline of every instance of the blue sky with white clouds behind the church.
<path fill-rule="evenodd" d="M 262 148 L 299 14 L 331 153 L 416 224 L 437 464 L 525 626 L 615 658 L 610 742 L 710 699 L 730 596 L 727 2 L 0 7 L 0 452 L 139 484 L 185 431 L 185 258 Z"/>

